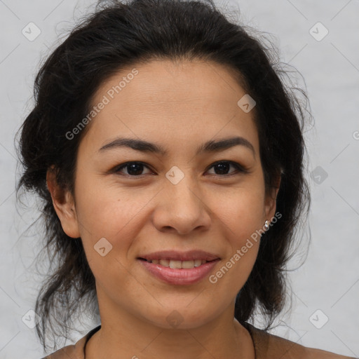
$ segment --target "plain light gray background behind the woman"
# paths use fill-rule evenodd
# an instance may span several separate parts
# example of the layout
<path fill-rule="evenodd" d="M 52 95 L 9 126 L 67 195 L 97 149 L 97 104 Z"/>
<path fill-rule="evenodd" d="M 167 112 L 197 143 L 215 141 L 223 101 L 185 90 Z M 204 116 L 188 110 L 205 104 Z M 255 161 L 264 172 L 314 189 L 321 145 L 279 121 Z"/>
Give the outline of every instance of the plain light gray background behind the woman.
<path fill-rule="evenodd" d="M 15 204 L 15 132 L 32 107 L 40 60 L 71 29 L 74 18 L 89 11 L 93 3 L 0 0 L 2 359 L 43 355 L 34 329 L 22 321 L 31 322 L 31 314 L 25 314 L 34 308 L 39 288 L 33 261 L 39 250 L 36 231 L 41 226 L 27 230 L 38 212 Z M 304 76 L 315 119 L 315 127 L 306 132 L 312 191 L 309 255 L 306 257 L 309 242 L 304 233 L 302 251 L 288 266 L 294 269 L 290 272 L 292 310 L 283 312 L 272 332 L 305 346 L 359 356 L 359 132 L 355 132 L 359 131 L 359 1 L 232 0 L 217 4 L 228 12 L 239 7 L 245 25 L 275 36 L 280 60 Z M 22 34 L 29 22 L 41 30 L 34 41 Z M 317 22 L 329 31 L 320 41 L 309 32 Z M 312 31 L 321 37 L 323 30 L 316 25 Z M 300 77 L 297 81 L 303 86 Z M 36 205 L 33 198 L 24 201 Z M 329 320 L 323 325 L 325 316 Z M 260 318 L 255 324 L 260 327 Z M 74 341 L 93 325 L 79 325 Z"/>

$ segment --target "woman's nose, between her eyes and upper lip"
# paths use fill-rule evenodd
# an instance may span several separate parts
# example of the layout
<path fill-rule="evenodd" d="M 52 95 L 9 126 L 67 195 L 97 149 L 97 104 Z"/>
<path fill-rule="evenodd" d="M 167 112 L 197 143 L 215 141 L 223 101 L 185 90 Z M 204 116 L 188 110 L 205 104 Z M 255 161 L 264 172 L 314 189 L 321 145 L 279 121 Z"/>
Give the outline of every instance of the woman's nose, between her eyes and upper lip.
<path fill-rule="evenodd" d="M 205 231 L 210 227 L 210 209 L 201 191 L 188 177 L 184 176 L 177 184 L 166 183 L 158 194 L 152 217 L 158 231 L 184 236 L 195 229 Z"/>

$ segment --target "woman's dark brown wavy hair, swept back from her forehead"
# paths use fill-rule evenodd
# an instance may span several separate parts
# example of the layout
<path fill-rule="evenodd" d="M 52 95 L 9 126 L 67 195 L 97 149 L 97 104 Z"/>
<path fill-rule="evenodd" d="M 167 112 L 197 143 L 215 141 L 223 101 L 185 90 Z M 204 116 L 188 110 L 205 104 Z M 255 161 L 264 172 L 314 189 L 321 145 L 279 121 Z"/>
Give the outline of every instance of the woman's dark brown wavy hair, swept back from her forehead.
<path fill-rule="evenodd" d="M 281 217 L 262 237 L 254 268 L 238 293 L 235 317 L 241 322 L 253 319 L 258 309 L 268 330 L 283 310 L 285 265 L 309 208 L 302 135 L 308 111 L 301 101 L 307 103 L 304 91 L 285 86 L 287 72 L 271 41 L 264 40 L 250 35 L 249 27 L 229 21 L 210 0 L 106 1 L 97 4 L 44 62 L 34 83 L 34 108 L 20 128 L 24 172 L 18 182 L 18 193 L 20 188 L 34 191 L 43 203 L 43 249 L 50 269 L 35 306 L 43 348 L 48 329 L 54 337 L 67 337 L 80 308 L 99 320 L 95 278 L 81 238 L 70 238 L 62 230 L 46 187 L 46 171 L 54 165 L 57 182 L 73 191 L 76 154 L 85 131 L 72 140 L 66 133 L 88 114 L 93 95 L 109 76 L 154 59 L 200 58 L 224 65 L 238 74 L 241 86 L 257 102 L 253 116 L 266 189 L 275 186 L 280 175 L 276 210 Z"/>

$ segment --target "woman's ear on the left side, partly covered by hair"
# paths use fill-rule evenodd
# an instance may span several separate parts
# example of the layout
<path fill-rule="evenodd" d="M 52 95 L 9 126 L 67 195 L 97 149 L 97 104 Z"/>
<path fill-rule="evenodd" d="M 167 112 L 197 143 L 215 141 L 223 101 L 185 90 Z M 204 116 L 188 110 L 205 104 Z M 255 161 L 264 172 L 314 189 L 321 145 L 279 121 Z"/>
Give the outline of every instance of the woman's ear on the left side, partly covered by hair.
<path fill-rule="evenodd" d="M 60 219 L 62 229 L 67 236 L 79 238 L 80 231 L 74 198 L 68 189 L 64 189 L 57 184 L 56 171 L 53 166 L 48 168 L 46 173 L 46 184 L 53 199 L 53 207 L 55 208 L 57 217 Z"/>

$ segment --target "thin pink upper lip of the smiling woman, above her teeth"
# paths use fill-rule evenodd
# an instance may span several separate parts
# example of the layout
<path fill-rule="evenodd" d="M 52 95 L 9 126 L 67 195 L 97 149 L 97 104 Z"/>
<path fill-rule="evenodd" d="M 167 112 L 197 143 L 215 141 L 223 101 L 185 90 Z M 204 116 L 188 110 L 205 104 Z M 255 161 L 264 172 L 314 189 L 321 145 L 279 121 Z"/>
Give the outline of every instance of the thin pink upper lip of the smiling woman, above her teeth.
<path fill-rule="evenodd" d="M 140 255 L 138 258 L 147 259 L 149 261 L 153 259 L 168 259 L 173 261 L 194 261 L 195 259 L 204 259 L 206 261 L 212 261 L 219 259 L 219 256 L 203 250 L 189 250 L 188 252 L 161 250 L 161 252 L 153 252 L 149 255 Z"/>

